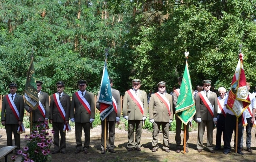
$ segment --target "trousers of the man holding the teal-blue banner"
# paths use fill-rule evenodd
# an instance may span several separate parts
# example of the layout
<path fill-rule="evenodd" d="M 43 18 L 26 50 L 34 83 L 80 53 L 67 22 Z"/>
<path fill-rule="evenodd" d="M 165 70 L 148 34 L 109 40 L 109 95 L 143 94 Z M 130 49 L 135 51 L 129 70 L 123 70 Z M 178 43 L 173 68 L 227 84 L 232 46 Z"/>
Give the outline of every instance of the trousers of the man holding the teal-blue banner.
<path fill-rule="evenodd" d="M 114 149 L 115 141 L 115 121 L 107 121 L 106 124 L 106 146 L 107 149 Z M 101 150 L 104 150 L 104 132 L 105 132 L 105 120 L 101 121 Z M 109 133 L 109 137 L 108 137 Z"/>

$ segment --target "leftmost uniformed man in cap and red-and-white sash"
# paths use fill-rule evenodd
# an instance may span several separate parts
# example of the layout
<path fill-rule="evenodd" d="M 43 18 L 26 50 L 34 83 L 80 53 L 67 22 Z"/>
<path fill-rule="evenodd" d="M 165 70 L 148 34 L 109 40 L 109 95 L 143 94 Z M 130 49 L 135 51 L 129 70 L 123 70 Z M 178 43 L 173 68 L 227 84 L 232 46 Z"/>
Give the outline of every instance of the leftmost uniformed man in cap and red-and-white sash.
<path fill-rule="evenodd" d="M 15 145 L 17 146 L 15 149 L 16 154 L 20 149 L 20 134 L 17 131 L 22 125 L 24 116 L 24 100 L 23 96 L 16 93 L 17 87 L 16 83 L 9 84 L 10 93 L 3 98 L 1 113 L 2 125 L 6 127 L 7 146 L 13 146 L 13 134 Z M 15 111 L 19 112 L 19 114 Z"/>

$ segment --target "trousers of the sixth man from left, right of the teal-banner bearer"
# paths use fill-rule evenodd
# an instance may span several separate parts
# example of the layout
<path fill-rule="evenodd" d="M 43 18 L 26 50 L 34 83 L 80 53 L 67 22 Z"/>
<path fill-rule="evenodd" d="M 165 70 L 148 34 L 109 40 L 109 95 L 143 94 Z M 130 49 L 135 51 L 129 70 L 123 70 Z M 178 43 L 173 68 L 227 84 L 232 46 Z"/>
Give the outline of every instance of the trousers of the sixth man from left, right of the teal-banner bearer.
<path fill-rule="evenodd" d="M 141 129 L 142 120 L 128 120 L 128 148 L 139 148 L 141 147 Z M 135 142 L 134 142 L 134 131 Z"/>

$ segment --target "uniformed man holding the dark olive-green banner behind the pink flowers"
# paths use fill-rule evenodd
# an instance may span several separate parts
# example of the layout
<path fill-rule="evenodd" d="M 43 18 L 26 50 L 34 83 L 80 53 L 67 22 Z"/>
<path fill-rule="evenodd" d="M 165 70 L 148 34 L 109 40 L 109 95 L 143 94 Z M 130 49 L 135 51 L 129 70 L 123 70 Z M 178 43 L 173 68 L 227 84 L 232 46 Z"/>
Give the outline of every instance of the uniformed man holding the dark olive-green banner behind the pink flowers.
<path fill-rule="evenodd" d="M 37 109 L 33 110 L 32 107 L 30 107 L 28 104 L 25 104 L 26 111 L 28 111 L 29 113 L 32 111 L 33 125 L 36 124 L 37 122 L 48 123 L 49 112 L 50 112 L 49 96 L 47 93 L 41 91 L 43 82 L 40 80 L 37 80 L 36 83 L 37 83 L 38 98 L 39 98 L 39 101 L 41 102 L 41 105 L 39 104 Z"/>

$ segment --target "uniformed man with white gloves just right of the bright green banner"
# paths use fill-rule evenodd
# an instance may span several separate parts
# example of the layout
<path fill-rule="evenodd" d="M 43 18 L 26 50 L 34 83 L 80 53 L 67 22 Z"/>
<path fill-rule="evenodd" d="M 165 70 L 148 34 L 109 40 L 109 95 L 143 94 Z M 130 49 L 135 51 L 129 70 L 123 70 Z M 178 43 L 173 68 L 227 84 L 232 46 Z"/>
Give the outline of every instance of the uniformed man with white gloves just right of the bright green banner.
<path fill-rule="evenodd" d="M 197 151 L 202 152 L 203 136 L 205 126 L 207 128 L 207 148 L 211 153 L 213 150 L 213 124 L 217 122 L 218 101 L 216 93 L 210 91 L 211 80 L 204 80 L 202 82 L 204 91 L 198 93 L 196 97 L 196 115 L 198 122 L 198 135 L 197 135 Z M 214 122 L 214 123 L 213 123 Z"/>

